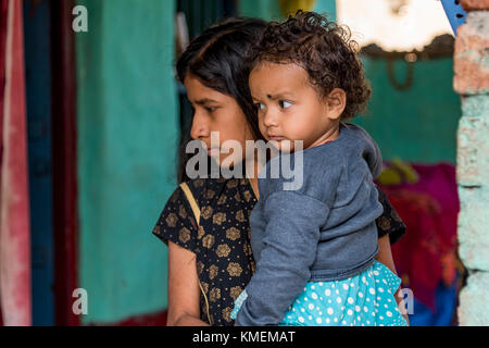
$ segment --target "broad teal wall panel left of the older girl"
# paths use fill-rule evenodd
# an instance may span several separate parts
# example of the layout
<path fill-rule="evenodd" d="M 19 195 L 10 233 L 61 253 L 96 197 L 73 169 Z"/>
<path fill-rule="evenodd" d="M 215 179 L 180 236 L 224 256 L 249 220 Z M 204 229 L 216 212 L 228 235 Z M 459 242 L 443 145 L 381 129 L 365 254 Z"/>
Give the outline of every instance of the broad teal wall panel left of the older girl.
<path fill-rule="evenodd" d="M 152 236 L 176 186 L 174 1 L 78 1 L 79 283 L 83 323 L 167 306 L 166 247 Z"/>

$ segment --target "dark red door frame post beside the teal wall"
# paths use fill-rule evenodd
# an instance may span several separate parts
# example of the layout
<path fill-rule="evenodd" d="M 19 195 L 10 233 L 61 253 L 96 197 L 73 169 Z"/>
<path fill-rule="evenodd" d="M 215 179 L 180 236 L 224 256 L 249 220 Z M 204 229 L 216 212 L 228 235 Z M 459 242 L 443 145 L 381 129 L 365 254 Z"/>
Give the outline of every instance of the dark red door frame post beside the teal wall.
<path fill-rule="evenodd" d="M 52 151 L 55 324 L 79 325 L 72 295 L 78 287 L 78 188 L 73 0 L 51 0 Z"/>

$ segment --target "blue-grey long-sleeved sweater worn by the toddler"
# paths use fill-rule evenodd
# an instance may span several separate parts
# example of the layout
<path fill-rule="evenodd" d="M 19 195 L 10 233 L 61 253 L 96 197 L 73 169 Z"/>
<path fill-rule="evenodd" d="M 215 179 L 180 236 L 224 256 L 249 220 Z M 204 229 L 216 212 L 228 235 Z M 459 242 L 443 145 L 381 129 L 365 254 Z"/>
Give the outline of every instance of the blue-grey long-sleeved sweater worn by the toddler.
<path fill-rule="evenodd" d="M 373 177 L 381 170 L 380 151 L 361 127 L 341 124 L 331 142 L 302 151 L 303 184 L 284 189 L 271 167 L 294 154 L 272 159 L 259 178 L 260 200 L 251 216 L 256 271 L 238 325 L 277 325 L 306 282 L 356 275 L 378 251 L 375 219 L 383 213 Z M 299 163 L 299 162 L 298 162 Z"/>

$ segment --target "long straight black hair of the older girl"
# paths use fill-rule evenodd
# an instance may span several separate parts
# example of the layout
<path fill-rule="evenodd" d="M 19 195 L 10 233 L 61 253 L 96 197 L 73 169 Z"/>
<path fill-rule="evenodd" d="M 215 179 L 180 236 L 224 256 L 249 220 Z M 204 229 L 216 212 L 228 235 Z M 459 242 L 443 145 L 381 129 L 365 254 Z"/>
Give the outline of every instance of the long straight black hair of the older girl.
<path fill-rule="evenodd" d="M 204 86 L 233 97 L 243 111 L 255 139 L 263 137 L 248 87 L 248 76 L 253 44 L 260 40 L 266 24 L 258 18 L 225 20 L 196 37 L 176 64 L 177 77 L 181 83 L 191 74 Z M 186 129 L 180 141 L 180 183 L 188 179 L 185 166 L 189 157 L 185 153 L 185 147 L 189 140 L 190 129 Z"/>

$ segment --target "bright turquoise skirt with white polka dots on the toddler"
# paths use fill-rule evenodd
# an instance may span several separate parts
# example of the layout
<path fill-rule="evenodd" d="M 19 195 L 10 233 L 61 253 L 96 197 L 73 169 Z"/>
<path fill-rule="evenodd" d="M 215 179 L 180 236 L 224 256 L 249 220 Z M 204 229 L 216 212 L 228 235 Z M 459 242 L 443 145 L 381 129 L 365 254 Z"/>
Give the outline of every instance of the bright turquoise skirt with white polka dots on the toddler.
<path fill-rule="evenodd" d="M 394 298 L 400 285 L 401 279 L 378 261 L 350 278 L 309 282 L 279 325 L 406 326 Z M 236 299 L 233 319 L 247 297 L 242 291 Z"/>

